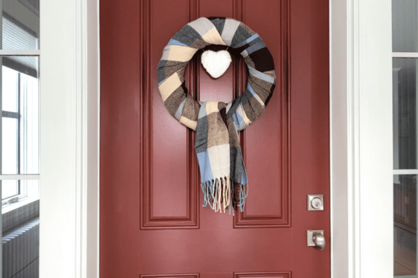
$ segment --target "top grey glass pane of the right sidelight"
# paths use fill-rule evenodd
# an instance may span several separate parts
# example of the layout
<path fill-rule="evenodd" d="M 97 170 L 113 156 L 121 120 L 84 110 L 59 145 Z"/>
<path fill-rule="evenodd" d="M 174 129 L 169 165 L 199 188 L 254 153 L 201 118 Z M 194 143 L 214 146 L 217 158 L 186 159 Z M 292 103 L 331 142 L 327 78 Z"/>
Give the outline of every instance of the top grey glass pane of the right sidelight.
<path fill-rule="evenodd" d="M 417 6 L 417 0 L 392 0 L 392 51 L 418 51 Z"/>

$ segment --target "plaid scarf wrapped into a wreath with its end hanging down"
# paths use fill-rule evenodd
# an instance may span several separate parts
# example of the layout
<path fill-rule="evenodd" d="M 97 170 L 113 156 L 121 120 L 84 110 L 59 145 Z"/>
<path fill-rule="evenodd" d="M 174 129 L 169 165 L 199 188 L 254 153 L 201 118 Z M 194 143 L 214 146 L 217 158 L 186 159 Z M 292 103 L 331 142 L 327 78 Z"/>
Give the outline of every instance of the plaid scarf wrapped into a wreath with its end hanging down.
<path fill-rule="evenodd" d="M 185 67 L 196 51 L 208 44 L 232 47 L 248 67 L 245 92 L 229 104 L 201 103 L 187 94 Z M 276 75 L 270 51 L 248 26 L 225 17 L 201 17 L 189 22 L 164 47 L 158 64 L 158 89 L 164 106 L 182 124 L 196 131 L 195 149 L 201 173 L 204 204 L 215 211 L 244 210 L 248 195 L 247 172 L 238 139 L 263 114 Z"/>

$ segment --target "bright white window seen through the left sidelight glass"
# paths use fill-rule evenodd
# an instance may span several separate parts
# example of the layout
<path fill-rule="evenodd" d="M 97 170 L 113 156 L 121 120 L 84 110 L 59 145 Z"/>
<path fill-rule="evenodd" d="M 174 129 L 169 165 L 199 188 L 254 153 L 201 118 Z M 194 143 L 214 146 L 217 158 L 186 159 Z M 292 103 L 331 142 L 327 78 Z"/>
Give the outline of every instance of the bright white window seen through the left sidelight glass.
<path fill-rule="evenodd" d="M 6 66 L 1 68 L 1 73 L 3 79 L 2 174 L 38 173 L 38 80 Z M 5 180 L 2 185 L 3 206 L 27 197 L 38 197 L 38 190 L 30 181 Z"/>

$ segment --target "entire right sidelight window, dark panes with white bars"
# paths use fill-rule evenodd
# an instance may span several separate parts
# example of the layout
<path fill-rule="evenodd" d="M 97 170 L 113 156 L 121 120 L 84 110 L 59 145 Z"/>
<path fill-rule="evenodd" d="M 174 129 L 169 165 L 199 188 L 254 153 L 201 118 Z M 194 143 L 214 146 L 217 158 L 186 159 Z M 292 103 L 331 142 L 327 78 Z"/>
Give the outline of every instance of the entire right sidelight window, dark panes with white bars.
<path fill-rule="evenodd" d="M 392 0 L 394 276 L 417 277 L 418 2 Z"/>

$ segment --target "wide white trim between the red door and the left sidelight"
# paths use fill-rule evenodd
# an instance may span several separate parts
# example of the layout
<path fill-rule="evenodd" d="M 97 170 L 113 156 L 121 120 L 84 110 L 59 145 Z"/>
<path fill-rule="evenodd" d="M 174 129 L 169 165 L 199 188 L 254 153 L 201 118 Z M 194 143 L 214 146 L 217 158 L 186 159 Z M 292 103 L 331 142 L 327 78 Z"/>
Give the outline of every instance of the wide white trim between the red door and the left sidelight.
<path fill-rule="evenodd" d="M 98 278 L 99 0 L 40 15 L 40 277 Z"/>

